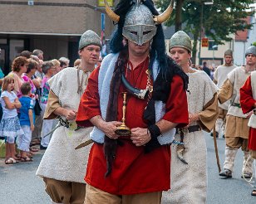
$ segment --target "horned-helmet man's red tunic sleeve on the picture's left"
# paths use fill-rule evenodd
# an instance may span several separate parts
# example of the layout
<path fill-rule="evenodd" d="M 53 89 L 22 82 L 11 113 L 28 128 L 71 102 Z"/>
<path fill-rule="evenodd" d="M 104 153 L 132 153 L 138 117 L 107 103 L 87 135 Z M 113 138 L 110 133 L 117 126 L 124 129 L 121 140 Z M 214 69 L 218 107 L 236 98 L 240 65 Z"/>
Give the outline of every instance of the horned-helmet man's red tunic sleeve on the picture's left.
<path fill-rule="evenodd" d="M 99 70 L 99 68 L 96 68 L 96 70 L 91 73 L 86 91 L 81 96 L 76 116 L 76 123 L 81 126 L 93 126 L 90 119 L 96 115 L 101 115 L 100 96 L 98 92 Z"/>

